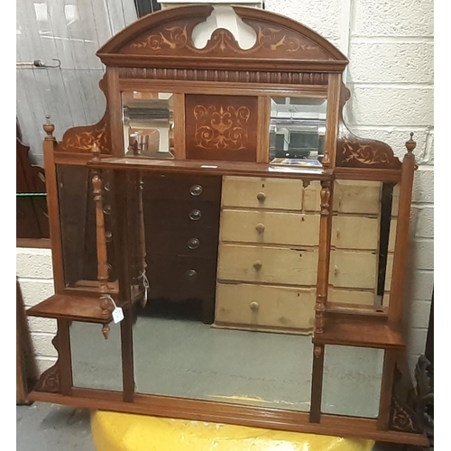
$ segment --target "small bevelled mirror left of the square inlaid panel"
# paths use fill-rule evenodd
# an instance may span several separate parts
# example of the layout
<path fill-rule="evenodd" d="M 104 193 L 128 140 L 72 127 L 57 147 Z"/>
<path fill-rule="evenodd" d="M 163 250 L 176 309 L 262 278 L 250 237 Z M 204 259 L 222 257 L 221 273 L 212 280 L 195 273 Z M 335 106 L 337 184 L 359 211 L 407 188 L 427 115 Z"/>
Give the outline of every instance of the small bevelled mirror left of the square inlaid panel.
<path fill-rule="evenodd" d="M 173 95 L 124 91 L 122 99 L 125 155 L 173 158 Z"/>

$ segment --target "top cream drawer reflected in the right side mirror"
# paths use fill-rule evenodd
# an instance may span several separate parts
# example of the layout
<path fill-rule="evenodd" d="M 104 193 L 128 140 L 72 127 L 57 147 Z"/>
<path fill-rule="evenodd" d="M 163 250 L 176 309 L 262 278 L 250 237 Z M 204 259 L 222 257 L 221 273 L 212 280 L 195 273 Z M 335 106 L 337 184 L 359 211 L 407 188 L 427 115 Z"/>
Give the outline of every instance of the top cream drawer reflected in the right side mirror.
<path fill-rule="evenodd" d="M 336 180 L 334 211 L 377 216 L 381 210 L 380 198 L 378 181 Z"/>

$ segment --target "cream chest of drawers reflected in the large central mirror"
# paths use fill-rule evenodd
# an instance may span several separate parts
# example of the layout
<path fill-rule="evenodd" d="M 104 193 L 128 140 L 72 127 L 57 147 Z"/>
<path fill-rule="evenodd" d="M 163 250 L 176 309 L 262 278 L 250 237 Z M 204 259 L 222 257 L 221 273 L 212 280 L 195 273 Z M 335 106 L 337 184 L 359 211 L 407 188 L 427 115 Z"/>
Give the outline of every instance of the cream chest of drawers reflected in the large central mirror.
<path fill-rule="evenodd" d="M 311 332 L 319 183 L 224 177 L 221 204 L 216 327 Z"/>

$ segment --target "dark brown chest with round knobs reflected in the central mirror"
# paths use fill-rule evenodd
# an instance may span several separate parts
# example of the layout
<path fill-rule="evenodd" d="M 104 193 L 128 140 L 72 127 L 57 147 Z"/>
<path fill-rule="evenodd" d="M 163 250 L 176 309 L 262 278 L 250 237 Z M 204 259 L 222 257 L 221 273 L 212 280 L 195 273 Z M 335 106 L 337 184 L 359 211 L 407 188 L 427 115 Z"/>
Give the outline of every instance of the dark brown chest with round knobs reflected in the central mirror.
<path fill-rule="evenodd" d="M 220 177 L 144 179 L 149 298 L 200 300 L 208 324 L 215 306 L 220 195 Z"/>

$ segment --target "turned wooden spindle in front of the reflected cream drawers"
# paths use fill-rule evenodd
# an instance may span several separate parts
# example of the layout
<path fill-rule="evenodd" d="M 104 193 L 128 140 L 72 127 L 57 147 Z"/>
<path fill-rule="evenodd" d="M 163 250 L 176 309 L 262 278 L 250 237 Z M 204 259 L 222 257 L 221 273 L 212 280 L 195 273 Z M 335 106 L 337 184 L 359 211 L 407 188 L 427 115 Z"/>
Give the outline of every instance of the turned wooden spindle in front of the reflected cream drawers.
<path fill-rule="evenodd" d="M 324 312 L 327 307 L 330 242 L 330 186 L 329 180 L 321 181 L 321 219 L 319 223 L 317 302 L 315 305 L 315 334 L 324 330 Z"/>

